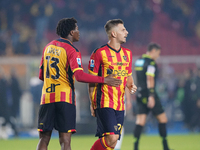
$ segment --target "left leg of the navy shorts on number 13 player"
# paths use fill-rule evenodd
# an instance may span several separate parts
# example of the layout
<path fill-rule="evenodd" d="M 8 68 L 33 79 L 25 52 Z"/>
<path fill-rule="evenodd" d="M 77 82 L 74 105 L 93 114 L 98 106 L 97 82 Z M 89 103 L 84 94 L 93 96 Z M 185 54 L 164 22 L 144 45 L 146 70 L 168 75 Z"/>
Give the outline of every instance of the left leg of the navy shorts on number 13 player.
<path fill-rule="evenodd" d="M 38 130 L 41 132 L 52 131 L 54 127 L 54 103 L 40 105 L 38 117 Z"/>

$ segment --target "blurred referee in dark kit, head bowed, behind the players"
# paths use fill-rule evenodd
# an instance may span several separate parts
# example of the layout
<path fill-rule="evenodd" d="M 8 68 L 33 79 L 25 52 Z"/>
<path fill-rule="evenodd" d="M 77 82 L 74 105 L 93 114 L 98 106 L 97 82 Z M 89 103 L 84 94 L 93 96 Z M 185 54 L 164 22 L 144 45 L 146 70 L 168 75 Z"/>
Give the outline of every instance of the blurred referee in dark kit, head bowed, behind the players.
<path fill-rule="evenodd" d="M 146 54 L 135 62 L 137 77 L 137 117 L 134 130 L 134 150 L 138 150 L 138 144 L 142 129 L 146 123 L 147 114 L 152 111 L 159 122 L 159 134 L 162 137 L 164 150 L 169 150 L 167 144 L 166 123 L 167 117 L 161 106 L 159 97 L 155 91 L 158 68 L 156 59 L 160 56 L 161 47 L 156 43 L 150 43 Z"/>

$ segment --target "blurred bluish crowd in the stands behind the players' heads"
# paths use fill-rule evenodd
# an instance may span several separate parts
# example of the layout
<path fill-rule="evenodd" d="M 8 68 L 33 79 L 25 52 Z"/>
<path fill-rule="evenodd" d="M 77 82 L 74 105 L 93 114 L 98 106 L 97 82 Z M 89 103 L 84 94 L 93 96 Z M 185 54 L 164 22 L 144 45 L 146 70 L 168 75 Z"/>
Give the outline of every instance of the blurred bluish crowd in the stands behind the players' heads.
<path fill-rule="evenodd" d="M 124 20 L 129 43 L 146 45 L 152 20 L 161 11 L 181 34 L 200 37 L 199 5 L 199 0 L 2 0 L 0 55 L 40 55 L 64 17 L 78 20 L 83 54 L 107 40 L 103 26 L 112 18 Z"/>

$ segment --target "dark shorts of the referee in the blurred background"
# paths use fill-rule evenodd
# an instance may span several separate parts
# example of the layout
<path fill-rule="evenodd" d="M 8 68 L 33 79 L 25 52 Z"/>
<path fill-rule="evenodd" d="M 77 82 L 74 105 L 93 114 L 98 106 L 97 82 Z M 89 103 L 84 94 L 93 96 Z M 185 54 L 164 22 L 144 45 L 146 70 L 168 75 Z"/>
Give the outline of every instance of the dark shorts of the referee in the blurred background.
<path fill-rule="evenodd" d="M 152 111 L 153 115 L 157 116 L 164 112 L 164 109 L 157 95 L 155 96 L 155 106 L 152 109 L 147 107 L 147 100 L 148 97 L 137 96 L 137 110 L 136 110 L 137 114 L 148 114 L 149 111 Z"/>

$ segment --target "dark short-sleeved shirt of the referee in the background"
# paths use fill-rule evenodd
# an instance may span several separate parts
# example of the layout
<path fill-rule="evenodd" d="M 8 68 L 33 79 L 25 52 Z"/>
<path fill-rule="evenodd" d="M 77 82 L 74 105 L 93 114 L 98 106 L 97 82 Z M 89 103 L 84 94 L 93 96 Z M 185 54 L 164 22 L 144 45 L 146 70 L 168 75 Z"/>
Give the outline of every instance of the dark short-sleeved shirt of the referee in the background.
<path fill-rule="evenodd" d="M 148 93 L 147 75 L 157 77 L 157 65 L 149 55 L 143 54 L 141 58 L 135 62 L 135 71 L 137 77 L 137 91 L 140 93 Z"/>

